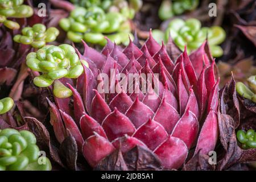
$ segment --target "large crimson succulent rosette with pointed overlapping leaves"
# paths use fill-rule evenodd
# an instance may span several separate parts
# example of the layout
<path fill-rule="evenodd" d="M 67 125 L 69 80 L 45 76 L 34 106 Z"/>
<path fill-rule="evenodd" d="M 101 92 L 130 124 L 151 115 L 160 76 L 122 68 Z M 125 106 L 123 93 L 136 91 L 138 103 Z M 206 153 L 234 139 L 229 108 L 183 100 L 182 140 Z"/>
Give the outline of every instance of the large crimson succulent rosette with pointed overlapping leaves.
<path fill-rule="evenodd" d="M 194 146 L 194 154 L 214 149 L 219 81 L 212 57 L 202 51 L 205 43 L 190 56 L 185 49 L 176 63 L 151 35 L 141 49 L 133 42 L 122 51 L 109 41 L 101 53 L 85 42 L 84 46 L 80 59 L 88 61 L 89 69 L 84 67 L 76 86 L 63 80 L 73 97 L 49 101 L 51 124 L 60 143 L 68 130 L 90 166 L 101 169 L 108 166 L 102 161 L 118 149 L 125 155 L 142 147 L 161 168 L 169 169 L 180 168 Z M 120 74 L 147 77 L 127 86 L 129 81 L 119 80 Z M 150 74 L 157 83 L 154 89 Z M 147 82 L 144 91 L 142 81 Z"/>

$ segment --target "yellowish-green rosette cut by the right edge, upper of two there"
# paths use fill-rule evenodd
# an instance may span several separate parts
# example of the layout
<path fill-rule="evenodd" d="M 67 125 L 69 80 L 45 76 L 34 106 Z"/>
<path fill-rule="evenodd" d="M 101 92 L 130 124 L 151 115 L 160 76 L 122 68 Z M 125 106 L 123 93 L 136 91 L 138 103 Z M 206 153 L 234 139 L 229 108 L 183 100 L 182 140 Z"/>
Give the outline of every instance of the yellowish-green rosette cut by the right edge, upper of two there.
<path fill-rule="evenodd" d="M 250 76 L 247 82 L 249 87 L 243 84 L 243 82 L 236 83 L 237 93 L 256 103 L 256 76 Z"/>

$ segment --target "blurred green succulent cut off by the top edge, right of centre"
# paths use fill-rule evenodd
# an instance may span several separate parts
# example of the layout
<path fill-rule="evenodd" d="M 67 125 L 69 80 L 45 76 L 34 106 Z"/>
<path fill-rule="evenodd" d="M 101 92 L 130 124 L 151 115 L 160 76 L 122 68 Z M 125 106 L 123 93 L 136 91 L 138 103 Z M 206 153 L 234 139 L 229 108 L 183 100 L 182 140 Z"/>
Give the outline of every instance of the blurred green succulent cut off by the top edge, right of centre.
<path fill-rule="evenodd" d="M 158 16 L 166 20 L 174 15 L 183 14 L 185 11 L 195 10 L 198 5 L 198 0 L 164 0 L 158 10 Z"/>

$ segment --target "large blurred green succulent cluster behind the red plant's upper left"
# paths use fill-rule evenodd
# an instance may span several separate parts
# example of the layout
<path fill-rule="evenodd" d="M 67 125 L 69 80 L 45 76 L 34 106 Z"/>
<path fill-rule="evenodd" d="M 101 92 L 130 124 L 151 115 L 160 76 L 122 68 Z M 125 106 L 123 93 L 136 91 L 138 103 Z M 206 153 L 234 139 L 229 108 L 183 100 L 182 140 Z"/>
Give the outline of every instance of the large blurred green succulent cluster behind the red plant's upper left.
<path fill-rule="evenodd" d="M 88 43 L 106 44 L 105 36 L 117 44 L 129 43 L 131 27 L 129 19 L 133 19 L 135 10 L 139 9 L 140 1 L 86 1 L 80 2 L 68 18 L 60 20 L 59 25 L 67 31 L 67 38 L 75 43 L 84 39 Z M 89 3 L 89 5 L 87 5 Z M 108 4 L 108 6 L 106 6 Z M 137 5 L 137 6 L 135 6 Z"/>

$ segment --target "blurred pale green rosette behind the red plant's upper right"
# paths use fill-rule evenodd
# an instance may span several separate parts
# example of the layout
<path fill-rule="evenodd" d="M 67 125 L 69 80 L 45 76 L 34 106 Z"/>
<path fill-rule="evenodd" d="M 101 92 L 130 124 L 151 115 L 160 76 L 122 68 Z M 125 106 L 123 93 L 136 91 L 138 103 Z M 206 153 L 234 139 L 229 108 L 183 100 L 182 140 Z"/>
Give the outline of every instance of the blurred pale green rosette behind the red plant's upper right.
<path fill-rule="evenodd" d="M 164 33 L 155 30 L 153 35 L 155 38 L 158 37 L 158 40 L 160 38 L 159 41 L 164 40 L 165 42 L 168 41 L 171 35 L 176 46 L 181 50 L 184 50 L 184 46 L 187 44 L 188 52 L 199 48 L 205 39 L 208 39 L 210 52 L 214 57 L 223 55 L 223 50 L 218 45 L 226 38 L 223 28 L 219 26 L 201 27 L 201 22 L 195 18 L 189 18 L 185 21 L 179 18 L 171 20 Z"/>

